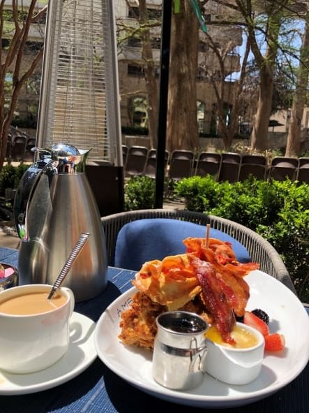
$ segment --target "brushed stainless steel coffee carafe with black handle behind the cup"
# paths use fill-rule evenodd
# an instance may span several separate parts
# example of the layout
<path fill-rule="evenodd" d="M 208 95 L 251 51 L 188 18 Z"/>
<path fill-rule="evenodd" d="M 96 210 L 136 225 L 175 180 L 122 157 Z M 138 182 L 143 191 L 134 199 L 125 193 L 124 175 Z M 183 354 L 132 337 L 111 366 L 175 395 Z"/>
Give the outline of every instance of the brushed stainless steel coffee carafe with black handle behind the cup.
<path fill-rule="evenodd" d="M 98 296 L 107 285 L 107 252 L 103 226 L 83 171 L 89 151 L 56 144 L 35 148 L 38 160 L 22 176 L 14 202 L 19 284 L 54 284 L 80 234 L 89 240 L 63 283 L 75 300 Z M 82 153 L 83 152 L 83 153 Z"/>

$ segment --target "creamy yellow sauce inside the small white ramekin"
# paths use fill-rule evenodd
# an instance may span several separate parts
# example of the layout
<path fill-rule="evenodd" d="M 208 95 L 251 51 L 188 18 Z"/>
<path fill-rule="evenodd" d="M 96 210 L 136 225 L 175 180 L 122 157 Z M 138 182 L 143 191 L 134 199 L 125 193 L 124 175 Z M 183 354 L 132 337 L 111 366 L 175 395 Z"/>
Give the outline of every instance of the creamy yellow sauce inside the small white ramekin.
<path fill-rule="evenodd" d="M 246 349 L 248 347 L 253 347 L 257 345 L 258 342 L 257 337 L 253 333 L 246 330 L 246 328 L 241 328 L 239 326 L 234 326 L 231 332 L 231 336 L 236 342 L 235 345 L 229 345 L 227 342 L 224 342 L 218 329 L 215 326 L 211 326 L 206 331 L 205 336 L 209 340 L 216 342 L 219 345 L 232 347 L 234 349 Z"/>

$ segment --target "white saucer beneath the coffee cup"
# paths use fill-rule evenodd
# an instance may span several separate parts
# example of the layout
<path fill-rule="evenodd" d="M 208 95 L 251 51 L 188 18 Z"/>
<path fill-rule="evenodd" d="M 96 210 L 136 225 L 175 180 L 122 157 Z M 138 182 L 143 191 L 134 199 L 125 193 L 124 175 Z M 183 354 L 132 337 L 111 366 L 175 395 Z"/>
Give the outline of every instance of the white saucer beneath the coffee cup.
<path fill-rule="evenodd" d="M 29 375 L 14 375 L 0 370 L 0 395 L 36 393 L 51 389 L 86 370 L 97 356 L 93 340 L 95 327 L 94 321 L 73 312 L 68 352 L 49 368 Z"/>

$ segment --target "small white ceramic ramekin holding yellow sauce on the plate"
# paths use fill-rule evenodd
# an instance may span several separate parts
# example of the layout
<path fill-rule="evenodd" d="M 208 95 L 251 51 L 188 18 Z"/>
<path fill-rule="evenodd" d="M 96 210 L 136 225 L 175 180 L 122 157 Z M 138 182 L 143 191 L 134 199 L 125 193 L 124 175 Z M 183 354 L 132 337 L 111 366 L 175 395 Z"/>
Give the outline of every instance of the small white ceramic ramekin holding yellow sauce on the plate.
<path fill-rule="evenodd" d="M 228 384 L 248 384 L 257 378 L 264 357 L 264 337 L 259 331 L 242 323 L 236 323 L 257 337 L 257 345 L 234 348 L 219 345 L 206 338 L 208 352 L 205 359 L 206 372 Z"/>

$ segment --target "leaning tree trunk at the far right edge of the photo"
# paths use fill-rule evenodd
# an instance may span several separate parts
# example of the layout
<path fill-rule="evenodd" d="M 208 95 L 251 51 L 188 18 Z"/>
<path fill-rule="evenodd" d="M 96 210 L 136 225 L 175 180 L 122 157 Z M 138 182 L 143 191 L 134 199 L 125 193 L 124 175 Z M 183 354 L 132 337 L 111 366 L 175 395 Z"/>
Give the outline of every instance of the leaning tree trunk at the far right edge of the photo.
<path fill-rule="evenodd" d="M 291 119 L 289 131 L 287 133 L 287 147 L 285 156 L 299 156 L 301 152 L 301 119 L 303 119 L 303 108 L 306 104 L 306 94 L 308 87 L 308 48 L 309 48 L 309 13 L 306 15 L 306 31 L 301 45 L 301 57 L 299 63 L 299 75 L 297 77 L 296 88 L 293 96 Z"/>

